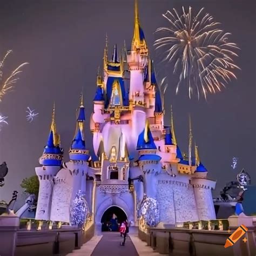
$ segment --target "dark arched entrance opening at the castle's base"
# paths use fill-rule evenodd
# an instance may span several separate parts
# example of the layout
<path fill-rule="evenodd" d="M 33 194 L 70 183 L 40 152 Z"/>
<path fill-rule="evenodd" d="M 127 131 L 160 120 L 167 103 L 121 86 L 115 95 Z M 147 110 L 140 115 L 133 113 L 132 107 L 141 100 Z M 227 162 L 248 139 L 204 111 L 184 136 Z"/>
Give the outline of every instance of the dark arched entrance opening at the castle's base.
<path fill-rule="evenodd" d="M 116 218 L 114 215 L 116 215 Z M 127 219 L 125 212 L 118 206 L 111 206 L 102 216 L 102 231 L 117 232 L 119 225 Z"/>

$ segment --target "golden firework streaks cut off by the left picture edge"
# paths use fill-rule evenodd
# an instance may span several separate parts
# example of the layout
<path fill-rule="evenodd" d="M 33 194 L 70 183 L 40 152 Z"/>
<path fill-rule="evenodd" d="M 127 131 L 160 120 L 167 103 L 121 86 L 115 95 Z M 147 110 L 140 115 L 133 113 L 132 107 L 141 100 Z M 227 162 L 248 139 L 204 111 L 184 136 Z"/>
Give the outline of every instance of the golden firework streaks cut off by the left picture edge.
<path fill-rule="evenodd" d="M 14 69 L 9 76 L 5 78 L 3 73 L 3 66 L 6 58 L 11 52 L 12 50 L 7 51 L 4 58 L 0 62 L 0 102 L 2 102 L 3 96 L 7 92 L 9 92 L 17 83 L 19 79 L 17 75 L 22 72 L 21 69 L 23 68 L 23 66 L 26 64 L 29 64 L 28 62 L 22 63 L 21 65 L 18 66 L 18 68 Z"/>

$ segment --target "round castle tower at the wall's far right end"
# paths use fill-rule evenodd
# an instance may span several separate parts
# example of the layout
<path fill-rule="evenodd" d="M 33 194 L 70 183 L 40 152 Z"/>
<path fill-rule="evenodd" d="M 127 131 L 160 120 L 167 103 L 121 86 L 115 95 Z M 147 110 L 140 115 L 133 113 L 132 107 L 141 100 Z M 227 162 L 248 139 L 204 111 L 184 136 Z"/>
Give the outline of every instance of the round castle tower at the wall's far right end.
<path fill-rule="evenodd" d="M 194 194 L 197 202 L 199 220 L 216 219 L 212 189 L 215 188 L 216 181 L 207 179 L 207 169 L 201 163 L 198 154 L 198 147 L 195 145 L 196 171 L 191 178 L 191 185 L 194 187 Z"/>

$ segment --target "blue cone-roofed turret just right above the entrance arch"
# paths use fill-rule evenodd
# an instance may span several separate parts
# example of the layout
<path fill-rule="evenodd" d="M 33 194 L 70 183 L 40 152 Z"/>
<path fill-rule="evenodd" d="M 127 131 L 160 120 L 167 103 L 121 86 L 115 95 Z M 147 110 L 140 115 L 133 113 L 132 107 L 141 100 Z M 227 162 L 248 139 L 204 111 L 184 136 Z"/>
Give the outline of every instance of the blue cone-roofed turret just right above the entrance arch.
<path fill-rule="evenodd" d="M 144 173 L 144 194 L 147 197 L 156 198 L 156 174 L 161 171 L 161 157 L 156 154 L 157 147 L 147 120 L 145 129 L 139 134 L 137 150 L 139 151 L 139 167 Z"/>

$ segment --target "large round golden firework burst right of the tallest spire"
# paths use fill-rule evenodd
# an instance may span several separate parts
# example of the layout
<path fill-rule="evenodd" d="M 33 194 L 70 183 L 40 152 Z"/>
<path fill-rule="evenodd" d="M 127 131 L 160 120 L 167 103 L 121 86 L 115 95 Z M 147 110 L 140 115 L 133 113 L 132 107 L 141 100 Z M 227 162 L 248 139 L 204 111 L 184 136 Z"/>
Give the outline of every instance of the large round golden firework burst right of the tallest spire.
<path fill-rule="evenodd" d="M 210 14 L 203 14 L 202 8 L 196 16 L 192 16 L 192 8 L 179 16 L 176 9 L 167 11 L 163 16 L 169 21 L 169 28 L 159 28 L 156 32 L 167 32 L 169 35 L 155 41 L 156 49 L 166 48 L 165 58 L 174 63 L 173 73 L 179 73 L 179 82 L 188 85 L 188 96 L 196 92 L 205 99 L 208 93 L 221 91 L 236 78 L 233 57 L 238 56 L 234 50 L 239 49 L 235 43 L 228 42 L 230 33 L 218 28 L 220 23 L 214 22 Z"/>

